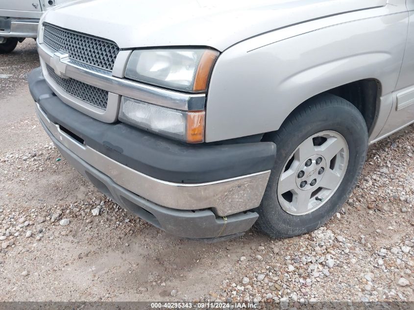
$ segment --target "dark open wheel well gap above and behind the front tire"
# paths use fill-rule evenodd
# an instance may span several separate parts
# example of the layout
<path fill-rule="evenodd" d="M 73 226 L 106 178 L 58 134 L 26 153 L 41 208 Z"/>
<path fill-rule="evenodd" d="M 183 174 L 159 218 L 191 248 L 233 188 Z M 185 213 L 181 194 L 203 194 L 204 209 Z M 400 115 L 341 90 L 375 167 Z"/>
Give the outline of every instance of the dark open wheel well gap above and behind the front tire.
<path fill-rule="evenodd" d="M 368 132 L 371 131 L 378 112 L 378 95 L 381 84 L 376 79 L 365 79 L 344 84 L 326 91 L 351 102 L 365 119 Z"/>

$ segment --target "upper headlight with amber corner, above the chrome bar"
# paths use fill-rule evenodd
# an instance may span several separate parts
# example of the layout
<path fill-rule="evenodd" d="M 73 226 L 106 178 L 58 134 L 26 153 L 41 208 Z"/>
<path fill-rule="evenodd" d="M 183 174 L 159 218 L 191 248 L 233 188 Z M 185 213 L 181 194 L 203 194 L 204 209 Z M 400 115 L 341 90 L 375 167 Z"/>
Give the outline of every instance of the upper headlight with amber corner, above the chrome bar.
<path fill-rule="evenodd" d="M 218 51 L 201 48 L 134 50 L 125 77 L 180 91 L 203 92 L 218 55 Z"/>

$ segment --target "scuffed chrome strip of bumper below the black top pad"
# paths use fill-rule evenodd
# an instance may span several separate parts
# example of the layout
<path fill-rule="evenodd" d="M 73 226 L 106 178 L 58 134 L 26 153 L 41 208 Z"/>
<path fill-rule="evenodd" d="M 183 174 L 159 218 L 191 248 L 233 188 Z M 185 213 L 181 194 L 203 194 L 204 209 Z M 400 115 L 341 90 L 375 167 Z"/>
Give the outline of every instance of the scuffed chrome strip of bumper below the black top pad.
<path fill-rule="evenodd" d="M 36 112 L 47 133 L 75 155 L 128 191 L 163 207 L 179 210 L 211 208 L 218 216 L 232 215 L 258 207 L 268 184 L 270 170 L 201 184 L 158 180 L 80 144 L 52 123 L 39 104 L 36 104 Z"/>

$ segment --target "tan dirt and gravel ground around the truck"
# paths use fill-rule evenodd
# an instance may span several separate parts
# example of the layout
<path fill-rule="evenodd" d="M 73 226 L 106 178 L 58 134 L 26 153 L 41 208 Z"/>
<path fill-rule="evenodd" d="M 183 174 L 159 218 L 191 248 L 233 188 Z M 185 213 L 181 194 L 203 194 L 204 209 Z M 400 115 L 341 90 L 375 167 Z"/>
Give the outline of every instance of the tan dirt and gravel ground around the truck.
<path fill-rule="evenodd" d="M 0 300 L 414 301 L 413 126 L 370 147 L 317 231 L 204 244 L 125 212 L 70 167 L 34 115 L 24 77 L 36 66 L 32 41 L 0 55 Z"/>

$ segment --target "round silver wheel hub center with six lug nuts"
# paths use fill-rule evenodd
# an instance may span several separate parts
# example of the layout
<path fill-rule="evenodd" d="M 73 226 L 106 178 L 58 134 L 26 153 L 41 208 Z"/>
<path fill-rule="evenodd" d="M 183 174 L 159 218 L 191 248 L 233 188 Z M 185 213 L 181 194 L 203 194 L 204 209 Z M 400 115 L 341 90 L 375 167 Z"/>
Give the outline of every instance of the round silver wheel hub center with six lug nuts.
<path fill-rule="evenodd" d="M 296 171 L 296 185 L 299 190 L 316 190 L 326 171 L 326 160 L 322 155 L 310 156 Z"/>

